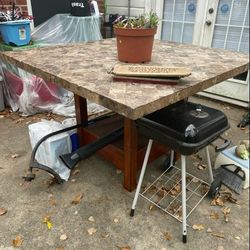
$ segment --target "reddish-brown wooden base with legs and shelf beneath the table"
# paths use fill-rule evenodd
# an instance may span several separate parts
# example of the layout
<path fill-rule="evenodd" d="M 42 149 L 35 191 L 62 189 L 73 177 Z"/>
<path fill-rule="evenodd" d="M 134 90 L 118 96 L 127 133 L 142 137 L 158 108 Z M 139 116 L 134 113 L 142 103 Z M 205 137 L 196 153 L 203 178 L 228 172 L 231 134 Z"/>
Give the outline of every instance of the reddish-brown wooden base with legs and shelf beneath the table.
<path fill-rule="evenodd" d="M 87 124 L 87 105 L 82 97 L 75 96 L 77 123 Z M 98 151 L 106 160 L 112 162 L 124 174 L 124 188 L 133 191 L 136 187 L 137 170 L 141 168 L 148 142 L 147 138 L 138 139 L 135 122 L 119 115 L 108 117 L 78 130 L 81 146 L 89 144 L 111 131 L 124 127 L 124 136 Z M 168 149 L 154 143 L 149 161 L 166 154 Z"/>

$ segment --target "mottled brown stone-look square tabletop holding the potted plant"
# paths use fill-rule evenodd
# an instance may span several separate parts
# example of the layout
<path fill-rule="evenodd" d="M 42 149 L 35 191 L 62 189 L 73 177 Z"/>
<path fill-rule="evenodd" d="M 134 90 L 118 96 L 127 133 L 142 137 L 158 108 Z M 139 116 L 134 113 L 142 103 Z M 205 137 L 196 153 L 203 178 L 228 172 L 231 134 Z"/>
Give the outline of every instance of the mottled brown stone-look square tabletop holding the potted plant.
<path fill-rule="evenodd" d="M 0 58 L 132 120 L 249 69 L 248 54 L 159 40 L 150 65 L 192 71 L 176 85 L 113 81 L 108 72 L 120 63 L 115 39 L 2 52 Z"/>

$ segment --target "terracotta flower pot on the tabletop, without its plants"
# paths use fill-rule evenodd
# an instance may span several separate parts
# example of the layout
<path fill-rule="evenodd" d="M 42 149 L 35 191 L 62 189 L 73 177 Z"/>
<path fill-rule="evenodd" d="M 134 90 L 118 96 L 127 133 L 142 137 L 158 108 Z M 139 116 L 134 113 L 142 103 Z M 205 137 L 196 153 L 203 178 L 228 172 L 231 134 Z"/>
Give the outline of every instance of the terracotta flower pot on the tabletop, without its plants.
<path fill-rule="evenodd" d="M 114 27 L 118 59 L 121 62 L 145 63 L 151 60 L 156 29 Z"/>

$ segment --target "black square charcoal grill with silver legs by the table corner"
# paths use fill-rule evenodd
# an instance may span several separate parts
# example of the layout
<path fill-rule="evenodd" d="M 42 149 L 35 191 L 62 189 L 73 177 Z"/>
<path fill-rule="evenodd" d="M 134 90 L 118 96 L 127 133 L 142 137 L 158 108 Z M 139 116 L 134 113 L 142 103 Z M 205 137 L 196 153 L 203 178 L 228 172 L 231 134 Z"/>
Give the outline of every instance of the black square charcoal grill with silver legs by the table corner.
<path fill-rule="evenodd" d="M 137 185 L 130 215 L 134 215 L 135 206 L 140 193 L 141 184 L 146 170 L 148 157 L 153 140 L 171 148 L 171 163 L 173 166 L 174 151 L 181 154 L 181 187 L 182 187 L 182 235 L 183 242 L 187 241 L 186 226 L 186 156 L 206 148 L 208 169 L 211 182 L 213 173 L 209 156 L 208 145 L 217 139 L 229 128 L 227 117 L 220 110 L 206 107 L 188 101 L 180 101 L 152 114 L 149 114 L 136 121 L 139 133 L 149 139 L 145 154 L 139 182 Z M 220 151 L 226 148 L 230 141 L 225 140 L 224 144 L 217 147 Z M 198 204 L 197 204 L 198 205 Z"/>

